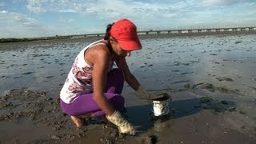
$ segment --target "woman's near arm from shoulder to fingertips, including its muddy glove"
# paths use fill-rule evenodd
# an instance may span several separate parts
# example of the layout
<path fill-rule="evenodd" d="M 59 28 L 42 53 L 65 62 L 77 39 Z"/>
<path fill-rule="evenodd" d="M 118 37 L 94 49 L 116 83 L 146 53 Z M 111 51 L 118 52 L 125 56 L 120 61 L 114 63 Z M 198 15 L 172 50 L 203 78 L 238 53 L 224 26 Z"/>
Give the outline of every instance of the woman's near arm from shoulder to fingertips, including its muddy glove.
<path fill-rule="evenodd" d="M 104 48 L 95 47 L 91 49 L 89 59 L 93 66 L 93 89 L 94 89 L 94 101 L 105 112 L 106 118 L 118 126 L 120 133 L 135 134 L 134 126 L 122 118 L 122 114 L 117 110 L 114 110 L 110 105 L 110 102 L 103 95 L 106 88 L 107 70 L 110 65 L 110 51 Z M 91 64 L 90 63 L 90 64 Z"/>

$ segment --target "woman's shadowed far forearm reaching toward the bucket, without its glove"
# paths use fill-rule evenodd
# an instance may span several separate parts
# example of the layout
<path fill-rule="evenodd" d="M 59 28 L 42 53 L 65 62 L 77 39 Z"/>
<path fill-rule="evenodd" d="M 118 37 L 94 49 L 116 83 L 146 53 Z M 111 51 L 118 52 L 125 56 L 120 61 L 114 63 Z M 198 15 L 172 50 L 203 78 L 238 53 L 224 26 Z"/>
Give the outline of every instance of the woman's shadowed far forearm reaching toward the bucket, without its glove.
<path fill-rule="evenodd" d="M 134 74 L 132 74 L 129 70 L 129 67 L 126 63 L 126 58 L 121 57 L 117 58 L 116 63 L 118 65 L 118 68 L 122 70 L 126 82 L 134 89 L 138 90 L 138 87 L 140 86 L 140 83 L 138 82 L 137 78 L 134 77 Z"/>

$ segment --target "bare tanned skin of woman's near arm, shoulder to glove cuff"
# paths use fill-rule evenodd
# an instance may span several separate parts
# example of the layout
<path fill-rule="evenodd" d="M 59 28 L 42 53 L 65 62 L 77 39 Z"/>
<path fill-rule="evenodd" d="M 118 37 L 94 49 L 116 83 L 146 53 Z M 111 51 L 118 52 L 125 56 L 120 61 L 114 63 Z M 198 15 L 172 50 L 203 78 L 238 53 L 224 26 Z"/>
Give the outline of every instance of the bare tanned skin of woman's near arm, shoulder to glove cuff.
<path fill-rule="evenodd" d="M 94 101 L 107 115 L 114 114 L 114 109 L 108 102 L 107 98 L 103 95 L 106 89 L 106 75 L 110 63 L 110 52 L 102 46 L 89 49 L 86 58 L 94 66 L 93 70 L 93 91 Z"/>

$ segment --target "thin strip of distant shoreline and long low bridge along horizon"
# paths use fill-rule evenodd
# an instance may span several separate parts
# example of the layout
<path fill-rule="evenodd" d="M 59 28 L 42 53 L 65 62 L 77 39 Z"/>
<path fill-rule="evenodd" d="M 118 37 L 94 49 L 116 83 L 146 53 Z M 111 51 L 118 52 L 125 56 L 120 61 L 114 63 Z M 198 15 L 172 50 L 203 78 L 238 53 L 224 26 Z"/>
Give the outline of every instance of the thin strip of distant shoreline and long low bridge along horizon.
<path fill-rule="evenodd" d="M 173 34 L 138 34 L 140 38 L 156 38 L 161 36 L 199 36 L 199 35 L 214 35 L 214 34 L 256 34 L 256 30 L 246 31 L 218 31 L 218 32 L 192 32 L 192 33 L 173 33 Z M 34 41 L 47 41 L 47 40 L 63 40 L 63 39 L 85 39 L 85 38 L 103 38 L 103 34 L 95 34 L 92 36 L 52 36 L 52 37 L 41 37 L 41 38 L 0 38 L 0 43 L 7 42 L 34 42 Z"/>

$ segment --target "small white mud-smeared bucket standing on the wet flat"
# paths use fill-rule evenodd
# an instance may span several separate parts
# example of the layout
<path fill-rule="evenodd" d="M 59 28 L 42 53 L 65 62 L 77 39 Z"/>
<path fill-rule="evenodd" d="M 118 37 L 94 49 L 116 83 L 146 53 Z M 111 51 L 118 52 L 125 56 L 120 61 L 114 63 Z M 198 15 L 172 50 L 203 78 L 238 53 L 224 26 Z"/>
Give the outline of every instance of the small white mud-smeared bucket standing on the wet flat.
<path fill-rule="evenodd" d="M 162 116 L 170 113 L 170 95 L 164 93 L 162 98 L 153 100 L 153 112 L 154 116 Z"/>

